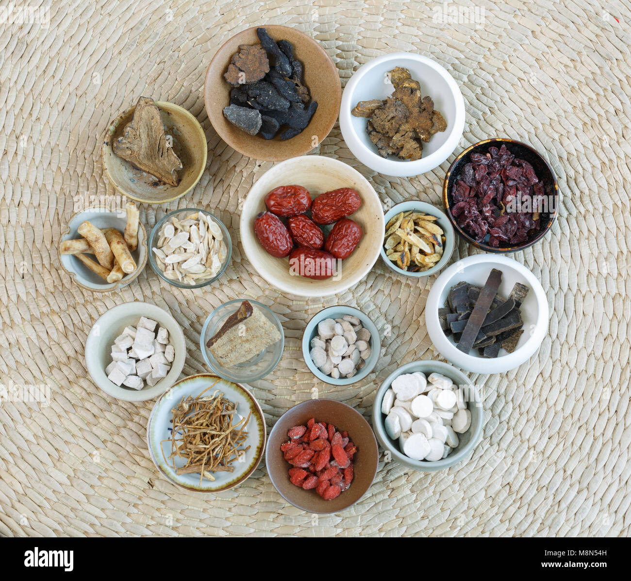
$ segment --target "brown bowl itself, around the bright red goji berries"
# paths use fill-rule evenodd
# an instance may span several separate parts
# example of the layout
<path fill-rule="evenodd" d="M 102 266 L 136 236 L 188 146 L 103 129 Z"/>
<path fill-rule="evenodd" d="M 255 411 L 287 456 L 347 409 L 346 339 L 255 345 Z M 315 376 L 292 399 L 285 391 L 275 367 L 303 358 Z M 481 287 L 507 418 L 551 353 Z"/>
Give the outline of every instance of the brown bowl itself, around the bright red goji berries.
<path fill-rule="evenodd" d="M 355 477 L 348 490 L 333 500 L 324 500 L 315 489 L 303 490 L 294 486 L 288 475 L 292 465 L 285 460 L 280 449 L 281 444 L 288 441 L 287 431 L 295 425 L 306 424 L 310 418 L 315 418 L 316 422 L 333 423 L 338 430 L 348 432 L 348 437 L 357 446 Z M 298 509 L 316 514 L 339 512 L 355 504 L 370 488 L 378 461 L 377 440 L 370 424 L 351 406 L 334 400 L 303 401 L 285 411 L 270 432 L 265 451 L 269 479 L 281 497 Z"/>

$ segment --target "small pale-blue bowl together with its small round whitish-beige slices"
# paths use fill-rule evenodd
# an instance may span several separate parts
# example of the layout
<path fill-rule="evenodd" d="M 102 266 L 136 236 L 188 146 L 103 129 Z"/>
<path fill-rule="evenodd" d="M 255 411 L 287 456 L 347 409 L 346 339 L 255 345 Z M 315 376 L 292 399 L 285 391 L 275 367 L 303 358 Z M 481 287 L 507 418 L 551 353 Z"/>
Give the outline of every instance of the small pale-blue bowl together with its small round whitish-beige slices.
<path fill-rule="evenodd" d="M 381 339 L 375 323 L 359 309 L 337 305 L 315 314 L 302 335 L 302 356 L 317 379 L 350 385 L 377 365 Z"/>

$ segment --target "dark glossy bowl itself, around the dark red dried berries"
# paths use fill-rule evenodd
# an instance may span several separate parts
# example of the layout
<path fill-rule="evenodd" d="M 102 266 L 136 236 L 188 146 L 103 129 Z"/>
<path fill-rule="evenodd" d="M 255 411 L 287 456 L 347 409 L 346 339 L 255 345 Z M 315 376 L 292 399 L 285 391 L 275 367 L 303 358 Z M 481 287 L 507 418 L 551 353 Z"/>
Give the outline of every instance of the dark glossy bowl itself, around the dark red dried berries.
<path fill-rule="evenodd" d="M 548 199 L 553 200 L 553 207 L 550 212 L 541 213 L 541 224 L 543 224 L 543 227 L 533 233 L 526 242 L 516 244 L 515 246 L 500 245 L 499 248 L 495 248 L 494 246 L 489 246 L 488 244 L 485 244 L 483 242 L 476 241 L 475 238 L 466 233 L 459 226 L 456 217 L 454 217 L 451 213 L 451 207 L 453 205 L 451 190 L 454 186 L 454 183 L 456 183 L 456 180 L 461 175 L 464 165 L 469 162 L 471 153 L 486 154 L 490 147 L 495 146 L 499 148 L 502 146 L 502 144 L 505 144 L 516 158 L 525 159 L 533 166 L 534 172 L 536 173 L 537 177 L 540 179 L 540 181 L 543 181 L 545 195 L 548 196 Z M 447 217 L 454 226 L 454 230 L 469 244 L 472 244 L 476 248 L 480 248 L 480 250 L 483 250 L 485 252 L 494 252 L 497 254 L 505 254 L 508 252 L 524 250 L 524 248 L 528 248 L 528 246 L 532 246 L 534 243 L 540 241 L 548 233 L 555 219 L 557 219 L 559 201 L 560 195 L 558 192 L 557 178 L 555 177 L 554 172 L 552 171 L 552 168 L 550 167 L 548 162 L 543 159 L 543 157 L 541 157 L 541 155 L 528 144 L 522 143 L 521 141 L 516 141 L 515 139 L 504 139 L 502 137 L 497 137 L 495 139 L 485 139 L 484 141 L 480 141 L 475 145 L 467 147 L 467 149 L 461 152 L 461 154 L 459 154 L 459 156 L 454 159 L 454 163 L 451 164 L 449 170 L 447 170 L 447 175 L 445 176 L 445 181 L 442 188 L 442 202 L 445 206 Z"/>

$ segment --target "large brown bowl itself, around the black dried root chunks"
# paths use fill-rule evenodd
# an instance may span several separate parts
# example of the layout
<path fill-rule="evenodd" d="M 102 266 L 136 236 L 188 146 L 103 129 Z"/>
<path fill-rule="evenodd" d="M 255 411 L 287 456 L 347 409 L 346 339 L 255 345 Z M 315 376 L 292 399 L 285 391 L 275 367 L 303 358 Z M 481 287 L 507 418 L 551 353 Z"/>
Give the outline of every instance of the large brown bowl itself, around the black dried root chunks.
<path fill-rule="evenodd" d="M 230 38 L 211 60 L 204 80 L 206 112 L 215 131 L 232 149 L 249 158 L 283 161 L 311 151 L 329 134 L 338 118 L 342 89 L 338 69 L 319 43 L 295 28 L 267 25 L 264 28 L 274 40 L 292 43 L 293 54 L 304 64 L 305 84 L 309 87 L 312 99 L 317 101 L 317 110 L 305 130 L 286 141 L 282 141 L 278 135 L 269 140 L 261 135 L 248 135 L 232 125 L 223 116 L 223 108 L 230 104 L 231 89 L 223 74 L 228 69 L 232 55 L 239 50 L 239 45 L 259 42 L 257 28 L 253 26 Z"/>

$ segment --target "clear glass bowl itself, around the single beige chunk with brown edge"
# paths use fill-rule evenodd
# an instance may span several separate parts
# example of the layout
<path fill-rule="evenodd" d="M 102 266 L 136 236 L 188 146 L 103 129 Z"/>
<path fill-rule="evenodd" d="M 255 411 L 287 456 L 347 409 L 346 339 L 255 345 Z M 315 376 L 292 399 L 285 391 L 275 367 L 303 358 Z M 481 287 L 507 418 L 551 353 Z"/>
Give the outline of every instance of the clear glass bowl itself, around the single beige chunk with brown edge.
<path fill-rule="evenodd" d="M 263 349 L 249 361 L 233 365 L 232 367 L 225 367 L 215 359 L 208 347 L 206 347 L 206 343 L 209 338 L 213 337 L 213 335 L 220 330 L 221 325 L 226 322 L 226 319 L 239 309 L 239 306 L 244 299 L 228 301 L 216 308 L 208 315 L 208 318 L 201 330 L 201 335 L 199 336 L 199 349 L 201 350 L 201 354 L 204 357 L 206 365 L 208 365 L 208 367 L 210 367 L 210 369 L 212 369 L 216 374 L 223 377 L 223 379 L 228 379 L 229 381 L 234 381 L 235 383 L 247 383 L 249 381 L 256 381 L 257 379 L 265 377 L 274 369 L 274 367 L 276 367 L 276 365 L 278 365 L 278 362 L 283 355 L 283 348 L 285 347 L 285 333 L 276 314 L 260 302 L 252 301 L 251 299 L 245 300 L 261 309 L 261 312 L 269 319 L 272 325 L 278 329 L 281 337 L 280 340 Z"/>

